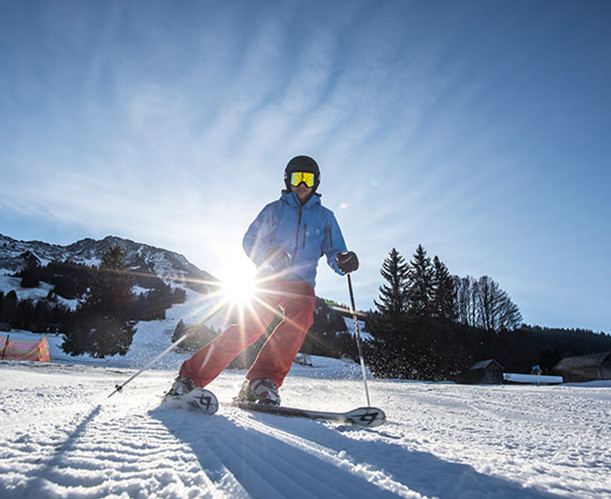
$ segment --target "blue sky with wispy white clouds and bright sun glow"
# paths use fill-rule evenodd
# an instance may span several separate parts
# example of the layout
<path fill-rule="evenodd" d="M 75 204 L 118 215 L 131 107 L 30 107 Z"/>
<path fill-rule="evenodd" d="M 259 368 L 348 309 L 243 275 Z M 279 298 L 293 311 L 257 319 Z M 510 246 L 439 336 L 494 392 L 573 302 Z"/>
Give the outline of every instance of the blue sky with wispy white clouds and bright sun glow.
<path fill-rule="evenodd" d="M 418 244 L 524 321 L 611 331 L 611 2 L 0 1 L 0 232 L 251 271 L 286 162 L 360 256 Z M 323 266 L 319 295 L 347 302 Z"/>

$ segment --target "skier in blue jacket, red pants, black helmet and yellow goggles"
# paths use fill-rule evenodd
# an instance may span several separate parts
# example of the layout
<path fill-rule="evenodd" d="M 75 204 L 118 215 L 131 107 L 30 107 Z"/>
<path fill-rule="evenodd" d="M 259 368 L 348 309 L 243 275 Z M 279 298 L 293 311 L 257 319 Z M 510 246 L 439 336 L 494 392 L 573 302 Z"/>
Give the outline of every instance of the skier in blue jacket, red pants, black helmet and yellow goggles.
<path fill-rule="evenodd" d="M 316 192 L 320 184 L 316 161 L 309 156 L 291 159 L 284 182 L 280 199 L 263 208 L 244 236 L 244 250 L 257 265 L 261 288 L 253 313 L 186 360 L 168 395 L 180 396 L 214 380 L 263 335 L 280 307 L 282 322 L 264 343 L 237 397 L 280 405 L 278 388 L 314 320 L 318 260 L 324 254 L 340 275 L 358 269 L 356 254 L 347 251 L 333 212 L 322 206 Z"/>

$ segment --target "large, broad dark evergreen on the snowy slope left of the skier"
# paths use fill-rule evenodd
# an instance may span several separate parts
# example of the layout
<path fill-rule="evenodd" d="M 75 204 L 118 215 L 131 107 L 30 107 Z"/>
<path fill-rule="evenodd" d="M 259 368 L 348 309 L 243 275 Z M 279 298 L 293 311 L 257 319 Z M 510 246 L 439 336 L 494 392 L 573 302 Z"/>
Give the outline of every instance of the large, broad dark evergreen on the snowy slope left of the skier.
<path fill-rule="evenodd" d="M 125 355 L 135 333 L 128 319 L 132 280 L 119 246 L 102 256 L 94 272 L 89 292 L 79 302 L 74 322 L 62 348 L 73 355 L 90 353 L 94 357 Z"/>

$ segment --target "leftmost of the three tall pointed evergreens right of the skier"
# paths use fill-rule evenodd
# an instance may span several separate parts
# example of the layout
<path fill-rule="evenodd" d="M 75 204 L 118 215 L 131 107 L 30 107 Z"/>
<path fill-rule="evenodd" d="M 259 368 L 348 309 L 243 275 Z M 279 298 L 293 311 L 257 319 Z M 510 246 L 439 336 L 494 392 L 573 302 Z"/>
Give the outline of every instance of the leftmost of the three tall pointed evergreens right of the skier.
<path fill-rule="evenodd" d="M 407 277 L 409 267 L 393 248 L 382 264 L 380 274 L 388 284 L 380 286 L 380 301 L 374 301 L 378 320 L 374 328 L 382 338 L 396 338 L 402 334 L 407 311 Z"/>

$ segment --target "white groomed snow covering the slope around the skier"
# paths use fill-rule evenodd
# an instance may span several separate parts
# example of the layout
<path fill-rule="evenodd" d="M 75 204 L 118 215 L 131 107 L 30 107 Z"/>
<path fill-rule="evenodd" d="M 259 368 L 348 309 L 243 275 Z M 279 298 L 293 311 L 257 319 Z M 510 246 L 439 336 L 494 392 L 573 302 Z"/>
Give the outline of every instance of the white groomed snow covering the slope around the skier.
<path fill-rule="evenodd" d="M 206 304 L 188 293 L 141 322 L 125 357 L 0 362 L 0 497 L 602 498 L 611 495 L 611 382 L 471 386 L 369 379 L 388 422 L 357 429 L 227 405 L 243 371 L 209 388 L 215 416 L 161 405 L 186 354 L 172 352 L 108 395 Z M 26 339 L 35 335 L 10 332 Z M 365 405 L 359 366 L 295 365 L 283 403 Z"/>

